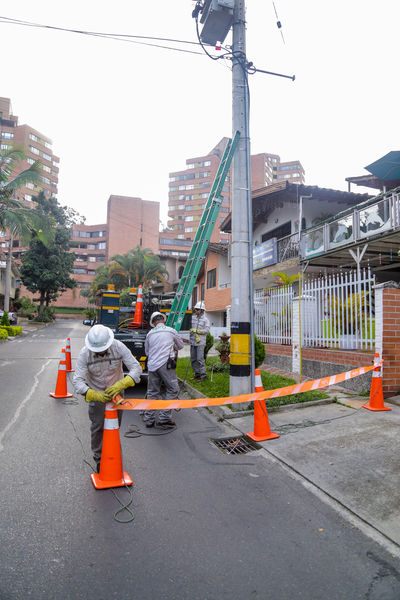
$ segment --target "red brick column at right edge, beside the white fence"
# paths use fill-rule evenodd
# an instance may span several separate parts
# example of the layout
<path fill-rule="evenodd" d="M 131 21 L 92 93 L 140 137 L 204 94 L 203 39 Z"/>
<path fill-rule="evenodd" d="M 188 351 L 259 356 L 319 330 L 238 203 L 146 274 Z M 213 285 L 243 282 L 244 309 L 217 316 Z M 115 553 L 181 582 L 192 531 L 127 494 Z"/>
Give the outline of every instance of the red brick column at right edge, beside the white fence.
<path fill-rule="evenodd" d="M 388 398 L 400 393 L 400 289 L 382 292 L 383 395 Z"/>

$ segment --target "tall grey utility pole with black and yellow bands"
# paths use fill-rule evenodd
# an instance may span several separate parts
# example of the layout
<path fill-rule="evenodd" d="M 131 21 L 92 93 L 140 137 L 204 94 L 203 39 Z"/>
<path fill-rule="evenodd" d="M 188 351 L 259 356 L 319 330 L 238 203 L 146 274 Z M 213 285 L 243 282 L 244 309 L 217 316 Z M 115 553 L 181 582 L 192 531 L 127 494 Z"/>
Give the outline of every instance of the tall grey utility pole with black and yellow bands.
<path fill-rule="evenodd" d="M 254 391 L 253 229 L 245 0 L 235 0 L 232 126 L 240 132 L 232 169 L 230 394 Z"/>

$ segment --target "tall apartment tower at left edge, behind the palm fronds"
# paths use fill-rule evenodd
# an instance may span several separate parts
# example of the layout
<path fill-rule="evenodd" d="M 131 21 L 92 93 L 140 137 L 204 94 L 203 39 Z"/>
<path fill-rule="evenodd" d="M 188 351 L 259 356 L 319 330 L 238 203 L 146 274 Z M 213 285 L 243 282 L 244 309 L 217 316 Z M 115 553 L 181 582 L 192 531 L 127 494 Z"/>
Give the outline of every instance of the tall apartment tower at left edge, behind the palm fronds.
<path fill-rule="evenodd" d="M 2 150 L 11 147 L 20 148 L 26 160 L 17 165 L 15 175 L 29 168 L 39 160 L 42 164 L 42 178 L 38 185 L 27 183 L 18 190 L 17 198 L 25 205 L 32 197 L 43 190 L 46 196 L 57 195 L 60 159 L 53 153 L 50 138 L 34 129 L 31 125 L 19 125 L 18 117 L 12 114 L 11 100 L 0 97 L 0 146 Z"/>

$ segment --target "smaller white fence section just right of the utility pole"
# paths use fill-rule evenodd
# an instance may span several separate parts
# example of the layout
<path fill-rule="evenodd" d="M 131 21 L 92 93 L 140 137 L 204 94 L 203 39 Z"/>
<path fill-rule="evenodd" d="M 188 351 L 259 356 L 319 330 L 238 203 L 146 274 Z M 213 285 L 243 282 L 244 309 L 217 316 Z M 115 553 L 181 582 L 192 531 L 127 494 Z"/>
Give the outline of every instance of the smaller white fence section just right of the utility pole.
<path fill-rule="evenodd" d="M 292 343 L 291 285 L 254 292 L 254 333 L 265 344 Z"/>

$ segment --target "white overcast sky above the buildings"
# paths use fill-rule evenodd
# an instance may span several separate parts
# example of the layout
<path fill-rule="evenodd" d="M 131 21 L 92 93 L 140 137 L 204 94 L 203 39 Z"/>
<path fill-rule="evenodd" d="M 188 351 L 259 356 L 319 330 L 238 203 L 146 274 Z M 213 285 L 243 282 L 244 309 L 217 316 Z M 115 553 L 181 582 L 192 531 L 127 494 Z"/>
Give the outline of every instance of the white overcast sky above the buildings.
<path fill-rule="evenodd" d="M 196 41 L 194 4 L 14 0 L 0 16 Z M 400 150 L 400 2 L 275 0 L 275 7 L 281 30 L 272 1 L 247 1 L 247 58 L 296 80 L 249 77 L 251 153 L 299 159 L 307 184 L 345 190 L 345 177 Z M 4 23 L 0 39 L 0 96 L 11 98 L 20 124 L 52 139 L 58 199 L 88 224 L 105 222 L 111 194 L 159 201 L 166 223 L 168 173 L 232 134 L 229 64 L 199 46 L 172 44 L 200 52 L 189 54 Z"/>

